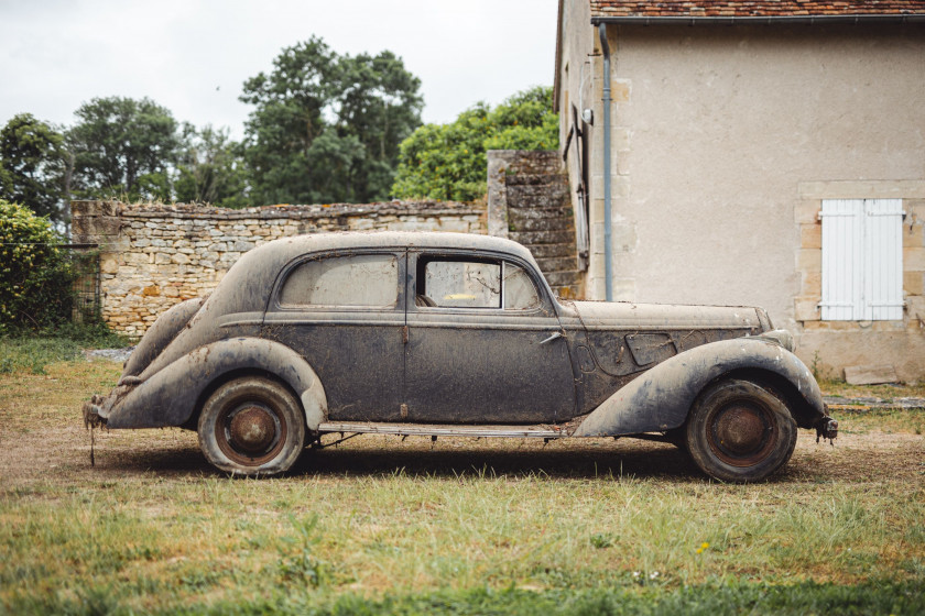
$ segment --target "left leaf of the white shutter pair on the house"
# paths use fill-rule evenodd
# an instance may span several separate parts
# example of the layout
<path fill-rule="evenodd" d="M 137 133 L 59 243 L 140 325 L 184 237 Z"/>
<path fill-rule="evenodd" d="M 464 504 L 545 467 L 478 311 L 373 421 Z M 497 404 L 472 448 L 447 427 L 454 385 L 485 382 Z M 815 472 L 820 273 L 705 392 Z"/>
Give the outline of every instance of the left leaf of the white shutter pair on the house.
<path fill-rule="evenodd" d="M 823 301 L 824 321 L 862 319 L 861 216 L 863 200 L 823 201 Z"/>

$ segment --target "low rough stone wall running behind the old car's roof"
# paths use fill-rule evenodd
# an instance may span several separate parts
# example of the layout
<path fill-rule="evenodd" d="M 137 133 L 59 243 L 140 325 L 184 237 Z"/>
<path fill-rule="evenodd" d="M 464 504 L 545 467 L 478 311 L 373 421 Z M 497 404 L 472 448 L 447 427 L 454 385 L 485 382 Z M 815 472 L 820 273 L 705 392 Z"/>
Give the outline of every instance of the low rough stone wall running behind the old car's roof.
<path fill-rule="evenodd" d="M 99 245 L 102 318 L 130 337 L 143 334 L 171 306 L 211 292 L 254 246 L 303 233 L 366 230 L 488 232 L 483 205 L 446 201 L 242 210 L 72 204 L 73 241 Z"/>

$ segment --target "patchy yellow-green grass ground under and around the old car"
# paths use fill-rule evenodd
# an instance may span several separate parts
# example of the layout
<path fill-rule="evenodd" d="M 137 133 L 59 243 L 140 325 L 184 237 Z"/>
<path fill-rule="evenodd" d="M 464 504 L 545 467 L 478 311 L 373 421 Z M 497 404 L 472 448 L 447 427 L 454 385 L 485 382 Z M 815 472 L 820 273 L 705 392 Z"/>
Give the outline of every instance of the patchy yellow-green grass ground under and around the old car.
<path fill-rule="evenodd" d="M 0 613 L 925 613 L 921 409 L 838 411 L 748 486 L 630 439 L 382 436 L 253 481 L 178 429 L 97 431 L 91 466 L 119 372 L 0 374 Z"/>

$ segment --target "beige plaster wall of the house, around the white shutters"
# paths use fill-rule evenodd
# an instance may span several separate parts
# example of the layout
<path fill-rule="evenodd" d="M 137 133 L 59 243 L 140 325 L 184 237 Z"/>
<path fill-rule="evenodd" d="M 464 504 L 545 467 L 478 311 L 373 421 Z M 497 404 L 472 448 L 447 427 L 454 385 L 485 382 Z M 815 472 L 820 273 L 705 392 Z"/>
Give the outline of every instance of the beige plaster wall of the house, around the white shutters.
<path fill-rule="evenodd" d="M 561 79 L 568 53 L 594 66 L 586 288 L 601 299 L 602 62 L 589 20 L 564 38 Z M 761 305 L 823 372 L 925 376 L 922 28 L 611 25 L 608 40 L 614 299 Z M 878 196 L 908 212 L 904 319 L 820 321 L 821 200 Z"/>

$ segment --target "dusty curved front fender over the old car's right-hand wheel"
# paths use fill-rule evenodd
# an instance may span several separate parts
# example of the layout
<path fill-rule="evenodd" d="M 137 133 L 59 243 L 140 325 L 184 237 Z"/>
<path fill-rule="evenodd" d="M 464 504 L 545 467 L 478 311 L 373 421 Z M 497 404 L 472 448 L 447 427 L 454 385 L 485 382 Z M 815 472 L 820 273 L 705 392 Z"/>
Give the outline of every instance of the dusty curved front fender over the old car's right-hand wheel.
<path fill-rule="evenodd" d="M 813 416 L 813 421 L 825 416 L 819 385 L 796 355 L 768 340 L 737 338 L 696 346 L 662 362 L 607 398 L 573 436 L 616 437 L 678 428 L 704 387 L 743 370 L 786 380 L 798 394 L 797 404 L 806 406 L 798 409 L 803 416 Z M 799 424 L 808 427 L 805 424 L 813 421 Z"/>

